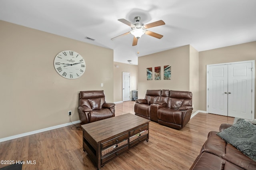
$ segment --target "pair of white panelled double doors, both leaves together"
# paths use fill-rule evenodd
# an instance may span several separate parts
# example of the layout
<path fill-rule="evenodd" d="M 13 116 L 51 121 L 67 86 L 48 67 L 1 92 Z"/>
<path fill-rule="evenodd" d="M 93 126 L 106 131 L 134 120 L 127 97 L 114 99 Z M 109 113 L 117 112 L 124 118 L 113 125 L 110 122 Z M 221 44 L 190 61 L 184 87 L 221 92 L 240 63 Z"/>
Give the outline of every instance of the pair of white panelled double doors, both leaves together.
<path fill-rule="evenodd" d="M 253 62 L 208 66 L 208 113 L 254 119 Z"/>

